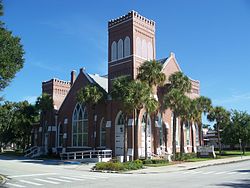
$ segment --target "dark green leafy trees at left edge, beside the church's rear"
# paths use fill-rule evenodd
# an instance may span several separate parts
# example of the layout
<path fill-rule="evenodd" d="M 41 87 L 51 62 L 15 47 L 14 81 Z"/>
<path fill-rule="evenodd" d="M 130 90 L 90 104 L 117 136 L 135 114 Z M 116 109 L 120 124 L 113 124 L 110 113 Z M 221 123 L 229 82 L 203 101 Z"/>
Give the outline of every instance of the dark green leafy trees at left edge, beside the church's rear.
<path fill-rule="evenodd" d="M 32 125 L 38 121 L 34 105 L 6 101 L 0 106 L 0 145 L 15 143 L 24 149 L 30 144 Z"/>

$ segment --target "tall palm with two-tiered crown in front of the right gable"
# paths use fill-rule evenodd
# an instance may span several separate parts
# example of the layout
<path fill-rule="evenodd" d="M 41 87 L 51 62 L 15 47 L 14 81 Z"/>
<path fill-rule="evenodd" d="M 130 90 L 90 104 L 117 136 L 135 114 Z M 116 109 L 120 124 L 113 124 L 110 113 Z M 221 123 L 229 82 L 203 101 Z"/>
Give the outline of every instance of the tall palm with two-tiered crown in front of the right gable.
<path fill-rule="evenodd" d="M 168 92 L 164 96 L 164 107 L 173 111 L 173 158 L 176 156 L 176 118 L 182 114 L 185 106 L 185 94 L 191 90 L 191 82 L 182 72 L 176 72 L 170 75 L 167 84 Z"/>

